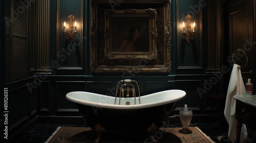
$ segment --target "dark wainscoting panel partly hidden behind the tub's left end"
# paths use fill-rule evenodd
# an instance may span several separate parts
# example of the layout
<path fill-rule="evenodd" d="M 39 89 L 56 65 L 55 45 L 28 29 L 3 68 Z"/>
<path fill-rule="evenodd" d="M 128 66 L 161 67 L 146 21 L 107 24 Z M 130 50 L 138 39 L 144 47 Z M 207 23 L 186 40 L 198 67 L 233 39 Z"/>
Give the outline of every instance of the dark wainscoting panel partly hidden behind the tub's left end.
<path fill-rule="evenodd" d="M 72 91 L 85 91 L 86 82 L 84 81 L 56 81 L 56 109 L 60 111 L 77 110 L 76 105 L 66 99 L 66 94 Z M 67 113 L 66 113 L 67 115 Z"/>

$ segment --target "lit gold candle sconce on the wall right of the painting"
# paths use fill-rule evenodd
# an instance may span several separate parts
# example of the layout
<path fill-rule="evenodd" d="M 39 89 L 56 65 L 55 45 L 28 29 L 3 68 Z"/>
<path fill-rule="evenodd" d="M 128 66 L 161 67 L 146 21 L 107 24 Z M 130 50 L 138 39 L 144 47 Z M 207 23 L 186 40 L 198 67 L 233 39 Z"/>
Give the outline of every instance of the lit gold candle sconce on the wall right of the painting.
<path fill-rule="evenodd" d="M 186 16 L 186 19 L 187 19 L 187 24 L 186 24 L 186 27 L 185 27 L 185 23 L 183 21 L 182 25 L 183 25 L 183 37 L 184 37 L 184 41 L 189 45 L 191 43 L 191 40 L 194 39 L 194 36 L 196 35 L 196 22 L 194 21 L 194 24 L 193 24 L 193 32 L 190 32 L 190 29 L 191 29 L 191 23 L 190 23 L 190 20 L 192 19 L 191 15 L 187 15 Z M 187 31 L 185 31 L 185 28 Z"/>

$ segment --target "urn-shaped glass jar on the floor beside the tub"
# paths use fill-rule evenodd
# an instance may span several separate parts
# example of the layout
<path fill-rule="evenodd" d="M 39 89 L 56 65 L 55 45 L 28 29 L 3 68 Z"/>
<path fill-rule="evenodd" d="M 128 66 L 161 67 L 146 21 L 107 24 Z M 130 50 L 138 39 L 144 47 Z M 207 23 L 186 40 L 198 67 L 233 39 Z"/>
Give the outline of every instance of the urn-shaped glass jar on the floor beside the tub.
<path fill-rule="evenodd" d="M 179 130 L 180 133 L 183 134 L 190 134 L 192 131 L 188 129 L 188 126 L 190 125 L 190 122 L 192 120 L 193 112 L 187 108 L 187 105 L 184 105 L 184 108 L 180 110 L 180 121 L 182 124 L 182 129 Z"/>

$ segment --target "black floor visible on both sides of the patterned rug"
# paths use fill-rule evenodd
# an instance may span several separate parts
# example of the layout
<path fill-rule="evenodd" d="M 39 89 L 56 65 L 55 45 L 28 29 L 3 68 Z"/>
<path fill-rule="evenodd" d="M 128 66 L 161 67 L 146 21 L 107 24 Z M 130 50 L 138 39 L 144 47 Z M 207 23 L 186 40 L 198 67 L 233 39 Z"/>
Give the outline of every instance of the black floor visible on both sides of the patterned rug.
<path fill-rule="evenodd" d="M 19 143 L 30 142 L 45 142 L 57 127 L 86 127 L 83 125 L 36 125 L 26 136 L 24 136 Z M 182 127 L 181 124 L 169 124 L 168 127 Z M 212 123 L 191 123 L 190 127 L 198 127 L 206 135 L 211 137 L 215 142 L 226 143 L 230 142 L 227 138 L 227 130 L 220 130 L 217 124 Z"/>

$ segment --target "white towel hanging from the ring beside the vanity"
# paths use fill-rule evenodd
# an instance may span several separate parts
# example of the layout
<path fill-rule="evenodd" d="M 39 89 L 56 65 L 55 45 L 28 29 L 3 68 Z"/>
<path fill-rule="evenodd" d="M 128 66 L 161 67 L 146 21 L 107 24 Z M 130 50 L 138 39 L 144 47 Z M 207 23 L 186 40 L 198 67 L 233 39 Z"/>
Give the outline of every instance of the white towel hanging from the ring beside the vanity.
<path fill-rule="evenodd" d="M 243 82 L 243 78 L 241 75 L 239 65 L 234 64 L 231 72 L 228 90 L 227 90 L 227 98 L 224 109 L 224 116 L 229 125 L 228 128 L 228 138 L 232 142 L 237 141 L 237 120 L 235 118 L 236 115 L 236 100 L 233 99 L 235 94 L 245 94 L 245 86 Z M 247 130 L 246 126 L 242 124 L 240 142 L 246 142 L 247 138 Z"/>

